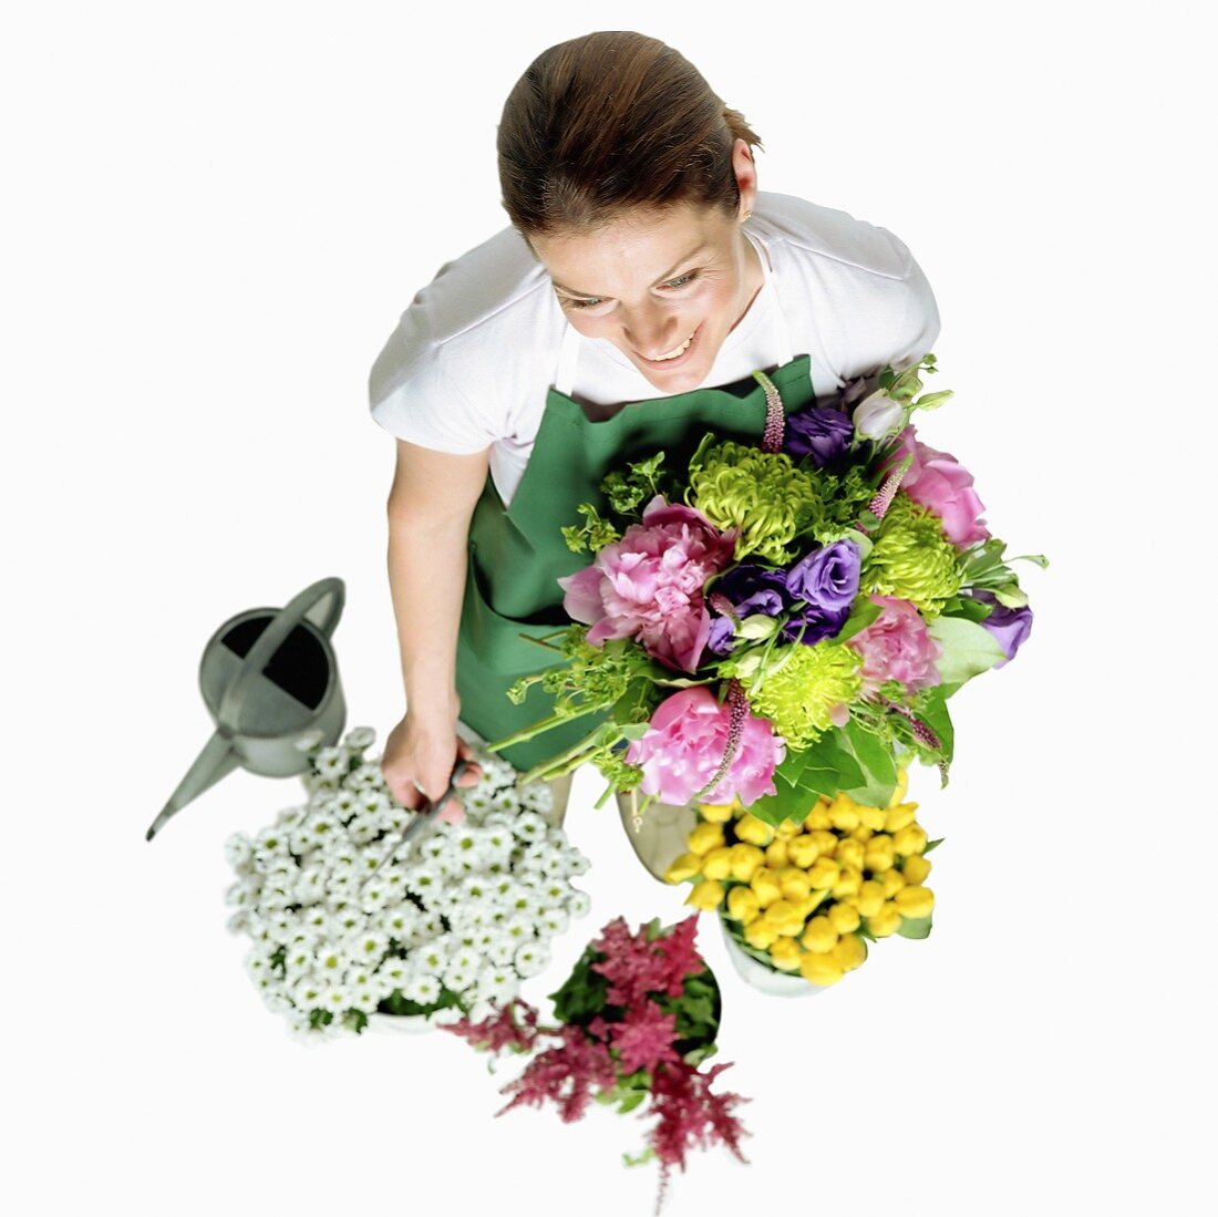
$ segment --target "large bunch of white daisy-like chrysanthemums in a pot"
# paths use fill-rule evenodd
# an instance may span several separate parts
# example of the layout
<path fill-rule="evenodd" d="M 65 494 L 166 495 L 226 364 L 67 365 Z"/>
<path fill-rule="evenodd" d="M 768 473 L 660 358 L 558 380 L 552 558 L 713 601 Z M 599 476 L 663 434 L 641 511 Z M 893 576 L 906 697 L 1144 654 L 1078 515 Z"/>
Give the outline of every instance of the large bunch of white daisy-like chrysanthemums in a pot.
<path fill-rule="evenodd" d="M 340 746 L 303 741 L 308 802 L 224 847 L 238 873 L 228 927 L 252 939 L 246 968 L 267 1006 L 309 1043 L 481 1021 L 588 911 L 570 882 L 588 861 L 544 819 L 549 788 L 518 787 L 487 753 L 462 791 L 464 822 L 425 826 L 373 876 L 414 814 L 364 759 L 374 739 L 356 727 Z"/>

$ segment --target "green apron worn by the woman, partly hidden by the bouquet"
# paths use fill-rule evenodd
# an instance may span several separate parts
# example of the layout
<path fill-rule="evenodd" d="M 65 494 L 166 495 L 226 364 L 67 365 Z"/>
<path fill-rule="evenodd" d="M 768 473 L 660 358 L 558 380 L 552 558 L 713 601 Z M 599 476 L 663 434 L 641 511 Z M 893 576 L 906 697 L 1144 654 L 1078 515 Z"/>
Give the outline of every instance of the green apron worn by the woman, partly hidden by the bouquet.
<path fill-rule="evenodd" d="M 786 414 L 815 403 L 810 368 L 810 358 L 801 355 L 769 373 Z M 760 443 L 765 420 L 765 390 L 753 378 L 642 401 L 602 422 L 592 422 L 566 392 L 549 389 L 510 504 L 504 508 L 488 475 L 474 508 L 457 640 L 462 721 L 495 741 L 553 713 L 553 698 L 538 685 L 519 705 L 507 691 L 518 677 L 551 668 L 559 658 L 529 638 L 570 624 L 558 579 L 588 565 L 591 556 L 572 553 L 560 529 L 580 523 L 581 503 L 607 509 L 600 492 L 605 474 L 661 450 L 665 468 L 683 470 L 706 431 Z M 605 716 L 585 715 L 502 755 L 516 769 L 530 769 L 572 747 Z"/>

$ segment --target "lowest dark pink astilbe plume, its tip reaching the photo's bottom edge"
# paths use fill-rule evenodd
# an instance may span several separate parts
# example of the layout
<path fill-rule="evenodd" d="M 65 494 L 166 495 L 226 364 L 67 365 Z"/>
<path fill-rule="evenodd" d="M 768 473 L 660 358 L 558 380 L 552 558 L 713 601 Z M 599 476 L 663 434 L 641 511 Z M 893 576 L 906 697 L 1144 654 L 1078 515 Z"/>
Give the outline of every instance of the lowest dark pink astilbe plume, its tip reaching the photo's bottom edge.
<path fill-rule="evenodd" d="M 648 1143 L 660 1162 L 657 1212 L 664 1204 L 672 1167 L 677 1166 L 685 1172 L 687 1150 L 721 1144 L 741 1162 L 748 1162 L 741 1152 L 741 1138 L 747 1137 L 748 1132 L 732 1112 L 738 1104 L 749 1100 L 732 1092 L 710 1093 L 711 1083 L 726 1068 L 731 1068 L 731 1065 L 713 1065 L 702 1073 L 681 1061 L 663 1066 L 652 1079 L 649 1113 L 658 1117 L 658 1123 L 652 1129 Z"/>

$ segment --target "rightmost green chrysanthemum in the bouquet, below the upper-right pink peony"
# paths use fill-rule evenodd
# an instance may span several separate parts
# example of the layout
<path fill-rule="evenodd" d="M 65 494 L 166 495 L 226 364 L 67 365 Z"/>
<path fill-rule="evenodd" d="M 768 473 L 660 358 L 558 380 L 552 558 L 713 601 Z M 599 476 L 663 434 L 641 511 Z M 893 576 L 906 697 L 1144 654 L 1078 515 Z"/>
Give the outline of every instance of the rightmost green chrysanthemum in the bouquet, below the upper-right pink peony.
<path fill-rule="evenodd" d="M 877 596 L 898 596 L 935 618 L 960 591 L 960 557 L 943 535 L 938 517 L 909 495 L 898 493 L 864 559 L 860 587 Z"/>

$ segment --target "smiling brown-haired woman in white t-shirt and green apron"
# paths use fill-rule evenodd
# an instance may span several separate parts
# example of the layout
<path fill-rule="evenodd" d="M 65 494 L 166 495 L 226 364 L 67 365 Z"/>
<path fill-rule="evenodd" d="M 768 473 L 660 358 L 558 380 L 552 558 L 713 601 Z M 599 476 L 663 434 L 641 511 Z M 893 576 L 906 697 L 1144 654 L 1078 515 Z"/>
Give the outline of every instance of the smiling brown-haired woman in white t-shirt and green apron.
<path fill-rule="evenodd" d="M 438 795 L 469 755 L 459 726 L 498 738 L 547 713 L 540 690 L 519 707 L 505 690 L 546 666 L 520 636 L 565 621 L 557 579 L 582 563 L 559 529 L 607 469 L 659 448 L 678 460 L 709 429 L 755 442 L 755 369 L 793 413 L 931 350 L 938 312 L 906 247 L 759 192 L 760 143 L 642 34 L 553 46 L 508 96 L 512 225 L 440 269 L 370 378 L 373 417 L 398 440 L 389 566 L 408 708 L 382 770 L 404 804 Z M 588 728 L 504 755 L 526 766 Z M 641 837 L 625 802 L 622 816 L 659 877 L 693 813 L 653 808 Z"/>

